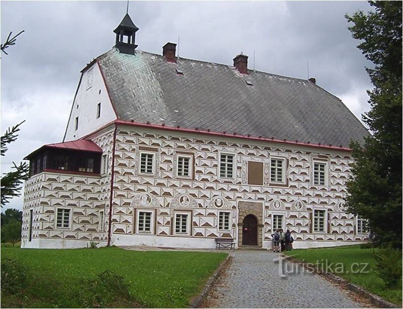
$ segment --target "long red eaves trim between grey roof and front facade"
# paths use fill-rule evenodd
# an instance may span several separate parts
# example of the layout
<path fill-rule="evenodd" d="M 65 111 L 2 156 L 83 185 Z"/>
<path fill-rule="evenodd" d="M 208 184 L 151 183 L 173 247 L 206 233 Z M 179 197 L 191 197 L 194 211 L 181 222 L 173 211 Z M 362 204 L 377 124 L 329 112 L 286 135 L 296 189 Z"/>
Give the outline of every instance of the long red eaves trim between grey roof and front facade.
<path fill-rule="evenodd" d="M 283 144 L 322 148 L 322 149 L 351 151 L 351 148 L 349 148 L 349 147 L 323 145 L 323 144 L 316 144 L 316 143 L 310 143 L 310 142 L 301 142 L 301 141 L 292 141 L 292 140 L 277 140 L 274 138 L 271 139 L 271 138 L 264 138 L 264 137 L 252 137 L 252 136 L 244 136 L 241 134 L 229 134 L 229 133 L 224 133 L 224 132 L 220 133 L 220 132 L 198 130 L 198 129 L 168 127 L 168 126 L 159 125 L 159 124 L 145 124 L 145 123 L 134 122 L 134 121 L 126 121 L 126 120 L 115 120 L 115 121 L 118 124 L 124 124 L 124 125 L 141 127 L 141 128 L 152 128 L 152 129 L 160 129 L 160 130 L 176 131 L 176 132 L 184 132 L 184 133 L 206 134 L 206 135 L 220 136 L 220 137 L 226 137 L 226 138 L 238 138 L 238 139 L 243 139 L 243 140 L 269 141 L 269 142 L 275 142 L 275 143 L 283 143 Z"/>

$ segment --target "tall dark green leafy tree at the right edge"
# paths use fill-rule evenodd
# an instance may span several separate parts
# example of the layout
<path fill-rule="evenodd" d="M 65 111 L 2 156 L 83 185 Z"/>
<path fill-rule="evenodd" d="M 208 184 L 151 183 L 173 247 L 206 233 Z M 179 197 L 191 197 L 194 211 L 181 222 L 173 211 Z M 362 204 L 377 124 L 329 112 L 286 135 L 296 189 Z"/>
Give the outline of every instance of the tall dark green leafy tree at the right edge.
<path fill-rule="evenodd" d="M 373 132 L 363 146 L 351 142 L 348 211 L 369 220 L 381 243 L 402 248 L 402 1 L 369 1 L 375 9 L 346 15 L 357 46 L 374 63 L 374 85 L 363 121 Z"/>

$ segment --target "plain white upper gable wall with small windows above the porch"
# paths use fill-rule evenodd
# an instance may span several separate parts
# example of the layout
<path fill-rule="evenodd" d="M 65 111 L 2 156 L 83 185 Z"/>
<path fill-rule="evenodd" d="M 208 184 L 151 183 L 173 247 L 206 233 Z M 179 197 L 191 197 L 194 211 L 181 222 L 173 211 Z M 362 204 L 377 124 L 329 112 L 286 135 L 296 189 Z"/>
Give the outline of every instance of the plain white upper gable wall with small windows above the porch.
<path fill-rule="evenodd" d="M 97 118 L 97 105 L 101 116 Z M 75 129 L 76 117 L 78 129 Z M 81 75 L 63 141 L 77 140 L 116 119 L 98 64 L 95 62 Z"/>

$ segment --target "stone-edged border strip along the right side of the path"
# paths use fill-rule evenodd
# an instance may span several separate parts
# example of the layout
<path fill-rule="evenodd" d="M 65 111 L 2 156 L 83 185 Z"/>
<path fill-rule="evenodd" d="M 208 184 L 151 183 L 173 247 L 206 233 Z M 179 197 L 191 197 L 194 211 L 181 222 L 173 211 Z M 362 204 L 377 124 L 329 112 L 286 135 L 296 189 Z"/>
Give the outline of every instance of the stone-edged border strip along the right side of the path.
<path fill-rule="evenodd" d="M 378 295 L 375 295 L 371 292 L 366 291 L 364 288 L 362 288 L 359 285 L 356 285 L 354 283 L 350 283 L 349 281 L 333 275 L 331 273 L 322 273 L 321 270 L 317 270 L 315 269 L 315 267 L 310 267 L 309 265 L 307 265 L 305 262 L 302 262 L 296 258 L 292 258 L 292 257 L 288 257 L 287 255 L 282 254 L 284 257 L 287 257 L 287 260 L 290 262 L 293 262 L 295 264 L 299 264 L 302 265 L 304 268 L 308 269 L 309 271 L 312 271 L 315 274 L 321 275 L 324 278 L 326 278 L 329 281 L 332 281 L 334 283 L 340 284 L 343 287 L 347 288 L 348 290 L 357 293 L 358 295 L 364 296 L 365 298 L 367 298 L 368 300 L 371 301 L 371 303 L 373 305 L 375 305 L 377 308 L 400 308 L 397 305 L 388 302 L 387 300 L 384 300 L 383 298 L 381 298 Z"/>

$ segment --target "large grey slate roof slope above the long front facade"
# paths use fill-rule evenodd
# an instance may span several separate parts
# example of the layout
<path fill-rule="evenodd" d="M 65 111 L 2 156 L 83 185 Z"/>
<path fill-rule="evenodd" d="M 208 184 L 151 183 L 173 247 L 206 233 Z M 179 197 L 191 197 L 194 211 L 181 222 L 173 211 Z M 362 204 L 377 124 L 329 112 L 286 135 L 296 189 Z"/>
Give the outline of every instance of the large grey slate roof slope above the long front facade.
<path fill-rule="evenodd" d="M 369 135 L 340 99 L 307 80 L 115 48 L 98 61 L 122 120 L 344 147 Z"/>

